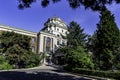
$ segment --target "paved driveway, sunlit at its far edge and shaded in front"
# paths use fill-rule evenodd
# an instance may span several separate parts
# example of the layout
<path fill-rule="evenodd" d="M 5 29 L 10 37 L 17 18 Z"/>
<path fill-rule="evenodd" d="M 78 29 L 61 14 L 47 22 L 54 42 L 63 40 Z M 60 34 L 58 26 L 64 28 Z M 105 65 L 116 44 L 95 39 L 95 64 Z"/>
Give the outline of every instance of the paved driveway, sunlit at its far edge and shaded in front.
<path fill-rule="evenodd" d="M 0 80 L 92 80 L 56 68 L 42 66 L 33 69 L 0 71 Z"/>

